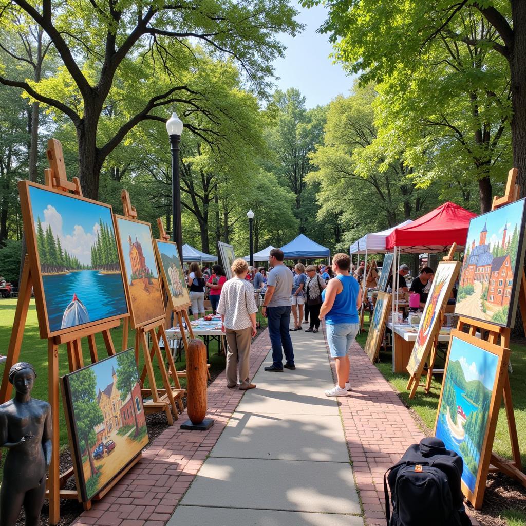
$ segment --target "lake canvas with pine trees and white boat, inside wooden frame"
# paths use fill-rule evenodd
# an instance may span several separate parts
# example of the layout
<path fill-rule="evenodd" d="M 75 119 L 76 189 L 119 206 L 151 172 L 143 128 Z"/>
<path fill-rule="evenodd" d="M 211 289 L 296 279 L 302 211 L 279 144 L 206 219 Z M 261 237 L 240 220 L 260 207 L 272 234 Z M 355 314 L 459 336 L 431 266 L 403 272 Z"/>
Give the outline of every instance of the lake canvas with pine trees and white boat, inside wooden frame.
<path fill-rule="evenodd" d="M 49 332 L 126 315 L 112 209 L 27 188 Z"/>

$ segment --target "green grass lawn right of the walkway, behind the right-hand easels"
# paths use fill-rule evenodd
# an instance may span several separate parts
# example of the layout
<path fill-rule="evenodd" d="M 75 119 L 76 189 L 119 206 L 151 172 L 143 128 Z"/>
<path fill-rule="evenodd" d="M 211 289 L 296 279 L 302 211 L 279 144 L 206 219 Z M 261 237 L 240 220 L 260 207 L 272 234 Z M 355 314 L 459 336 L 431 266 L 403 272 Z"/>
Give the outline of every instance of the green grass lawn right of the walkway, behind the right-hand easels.
<path fill-rule="evenodd" d="M 366 319 L 365 331 L 362 332 L 362 334 L 357 338 L 357 341 L 360 343 L 362 348 L 365 347 L 368 329 L 369 322 Z M 400 398 L 403 400 L 406 406 L 414 409 L 414 411 L 419 414 L 428 430 L 430 429 L 432 431 L 434 429 L 434 422 L 437 416 L 442 376 L 433 378 L 429 395 L 426 395 L 426 393 L 423 391 L 423 388 L 419 388 L 416 396 L 410 400 L 409 391 L 406 390 L 409 376 L 392 372 L 392 352 L 380 352 L 380 360 L 380 363 L 377 363 L 376 366 L 382 375 L 400 394 Z M 517 434 L 519 437 L 522 466 L 524 469 L 524 466 L 526 466 L 526 382 L 524 381 L 524 378 L 526 378 L 525 345 L 518 345 L 517 343 L 513 342 L 511 343 L 511 363 L 513 366 L 513 373 L 510 375 L 511 391 L 513 396 L 515 420 L 517 422 Z M 436 367 L 442 368 L 443 362 L 440 363 L 440 361 L 438 361 Z M 508 423 L 504 406 L 501 407 L 499 412 L 499 420 L 497 423 L 497 432 L 495 433 L 495 440 L 493 443 L 493 451 L 505 458 L 511 459 Z"/>

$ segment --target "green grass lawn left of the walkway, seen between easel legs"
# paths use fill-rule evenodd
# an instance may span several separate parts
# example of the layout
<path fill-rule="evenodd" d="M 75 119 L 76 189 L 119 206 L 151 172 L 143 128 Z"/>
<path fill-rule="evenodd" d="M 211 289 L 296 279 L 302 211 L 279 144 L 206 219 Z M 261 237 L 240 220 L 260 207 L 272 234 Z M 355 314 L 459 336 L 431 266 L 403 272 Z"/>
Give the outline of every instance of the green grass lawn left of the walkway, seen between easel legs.
<path fill-rule="evenodd" d="M 11 338 L 11 329 L 13 327 L 13 319 L 15 316 L 16 300 L 15 299 L 3 299 L 0 300 L 0 354 L 7 354 L 7 347 L 9 345 L 9 339 Z M 115 349 L 119 351 L 122 348 L 123 341 L 123 327 L 112 329 L 112 338 L 115 345 Z M 135 331 L 129 330 L 128 333 L 128 347 L 133 347 L 135 342 Z M 89 348 L 86 340 L 82 342 L 82 350 L 84 356 L 84 363 L 87 365 L 91 363 L 89 356 Z M 106 347 L 102 336 L 97 335 L 97 351 L 99 359 L 103 359 L 107 356 Z M 210 373 L 222 371 L 225 368 L 225 357 L 217 356 L 217 342 L 210 342 Z M 29 305 L 29 312 L 27 315 L 26 327 L 24 330 L 24 339 L 22 341 L 22 350 L 20 354 L 20 361 L 27 361 L 33 364 L 37 372 L 37 379 L 35 381 L 35 387 L 33 389 L 33 397 L 42 400 L 47 400 L 47 340 L 41 340 L 38 331 L 38 321 L 35 308 L 35 300 L 31 300 Z M 139 372 L 143 368 L 142 353 L 140 353 L 140 364 Z M 186 368 L 185 355 L 183 353 L 182 361 L 176 362 L 178 370 Z M 162 388 L 163 383 L 161 380 L 159 368 L 157 362 L 154 359 L 154 371 L 156 376 L 157 386 Z M 0 375 L 4 372 L 4 364 L 0 364 Z M 69 372 L 68 360 L 66 355 L 66 346 L 61 345 L 59 347 L 59 374 L 60 376 L 65 375 Z M 186 387 L 186 379 L 181 379 L 181 385 Z M 62 404 L 62 400 L 61 400 Z M 62 407 L 60 407 L 60 446 L 64 447 L 68 444 L 67 428 L 65 423 L 65 416 Z"/>

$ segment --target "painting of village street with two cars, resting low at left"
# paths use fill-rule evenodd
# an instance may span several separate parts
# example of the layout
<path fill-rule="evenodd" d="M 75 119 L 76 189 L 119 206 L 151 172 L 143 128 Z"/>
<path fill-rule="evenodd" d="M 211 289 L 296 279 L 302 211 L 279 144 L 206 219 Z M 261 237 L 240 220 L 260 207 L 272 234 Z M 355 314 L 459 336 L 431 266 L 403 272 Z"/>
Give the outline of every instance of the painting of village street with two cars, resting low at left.
<path fill-rule="evenodd" d="M 63 378 L 77 485 L 90 500 L 148 443 L 134 350 Z"/>

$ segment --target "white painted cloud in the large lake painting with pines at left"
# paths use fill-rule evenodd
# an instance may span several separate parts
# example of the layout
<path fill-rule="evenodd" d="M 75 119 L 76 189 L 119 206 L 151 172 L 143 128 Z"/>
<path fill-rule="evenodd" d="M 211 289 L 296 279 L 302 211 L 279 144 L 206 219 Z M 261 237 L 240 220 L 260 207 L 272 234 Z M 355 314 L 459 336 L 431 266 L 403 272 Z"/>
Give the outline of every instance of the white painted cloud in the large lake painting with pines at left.
<path fill-rule="evenodd" d="M 85 232 L 82 226 L 74 225 L 72 234 L 64 235 L 64 232 L 62 231 L 62 216 L 58 213 L 55 207 L 47 205 L 47 208 L 44 210 L 44 219 L 45 221 L 42 221 L 44 232 L 49 225 L 53 231 L 53 236 L 55 238 L 58 237 L 60 240 L 60 245 L 62 245 L 63 250 L 66 250 L 72 256 L 76 256 L 83 264 L 89 264 L 91 262 L 92 245 L 95 243 L 98 231 L 100 230 L 98 223 L 93 225 L 91 232 Z"/>

